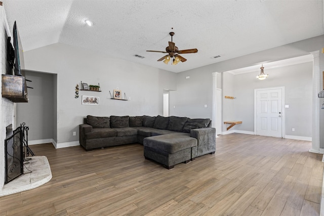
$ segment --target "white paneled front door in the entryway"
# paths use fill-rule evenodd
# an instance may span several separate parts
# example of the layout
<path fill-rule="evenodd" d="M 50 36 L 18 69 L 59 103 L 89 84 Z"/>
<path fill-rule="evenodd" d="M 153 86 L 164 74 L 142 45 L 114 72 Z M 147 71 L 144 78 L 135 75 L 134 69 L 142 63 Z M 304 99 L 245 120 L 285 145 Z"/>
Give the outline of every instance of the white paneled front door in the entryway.
<path fill-rule="evenodd" d="M 256 91 L 256 135 L 282 137 L 282 89 Z"/>

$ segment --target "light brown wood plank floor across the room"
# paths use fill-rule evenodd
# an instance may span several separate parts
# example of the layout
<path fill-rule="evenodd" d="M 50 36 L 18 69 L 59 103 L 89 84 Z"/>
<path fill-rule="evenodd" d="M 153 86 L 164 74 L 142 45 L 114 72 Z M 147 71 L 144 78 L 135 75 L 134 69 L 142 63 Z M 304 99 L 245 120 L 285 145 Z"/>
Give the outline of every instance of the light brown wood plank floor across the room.
<path fill-rule="evenodd" d="M 322 155 L 311 142 L 230 134 L 215 154 L 166 169 L 139 144 L 86 152 L 30 146 L 53 179 L 0 197 L 0 215 L 319 215 Z"/>

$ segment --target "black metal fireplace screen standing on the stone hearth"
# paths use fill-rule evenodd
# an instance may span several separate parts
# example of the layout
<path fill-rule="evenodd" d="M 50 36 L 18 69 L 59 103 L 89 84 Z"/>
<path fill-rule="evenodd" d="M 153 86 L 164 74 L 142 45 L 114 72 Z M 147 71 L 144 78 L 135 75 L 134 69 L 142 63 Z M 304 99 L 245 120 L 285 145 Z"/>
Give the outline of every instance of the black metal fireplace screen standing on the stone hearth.
<path fill-rule="evenodd" d="M 13 134 L 5 140 L 5 184 L 24 173 L 23 169 L 23 130 L 18 127 Z"/>

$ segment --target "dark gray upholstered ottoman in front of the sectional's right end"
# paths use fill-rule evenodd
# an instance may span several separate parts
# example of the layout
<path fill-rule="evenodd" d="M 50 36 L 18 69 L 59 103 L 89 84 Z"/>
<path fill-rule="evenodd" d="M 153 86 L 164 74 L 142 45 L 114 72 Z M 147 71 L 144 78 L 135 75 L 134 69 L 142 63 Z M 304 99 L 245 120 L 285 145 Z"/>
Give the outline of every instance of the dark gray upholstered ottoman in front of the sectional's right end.
<path fill-rule="evenodd" d="M 197 148 L 197 139 L 187 133 L 147 137 L 143 141 L 144 157 L 171 169 L 175 164 L 189 162 L 192 148 Z"/>

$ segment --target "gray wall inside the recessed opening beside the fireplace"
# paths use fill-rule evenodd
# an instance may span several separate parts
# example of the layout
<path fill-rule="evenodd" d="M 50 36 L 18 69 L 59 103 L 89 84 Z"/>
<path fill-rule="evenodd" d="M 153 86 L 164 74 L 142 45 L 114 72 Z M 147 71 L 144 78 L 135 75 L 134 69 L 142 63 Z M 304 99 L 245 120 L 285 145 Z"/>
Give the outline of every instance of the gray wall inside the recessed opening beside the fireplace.
<path fill-rule="evenodd" d="M 54 75 L 26 71 L 28 103 L 17 103 L 17 124 L 29 127 L 28 140 L 53 139 L 54 131 Z"/>

